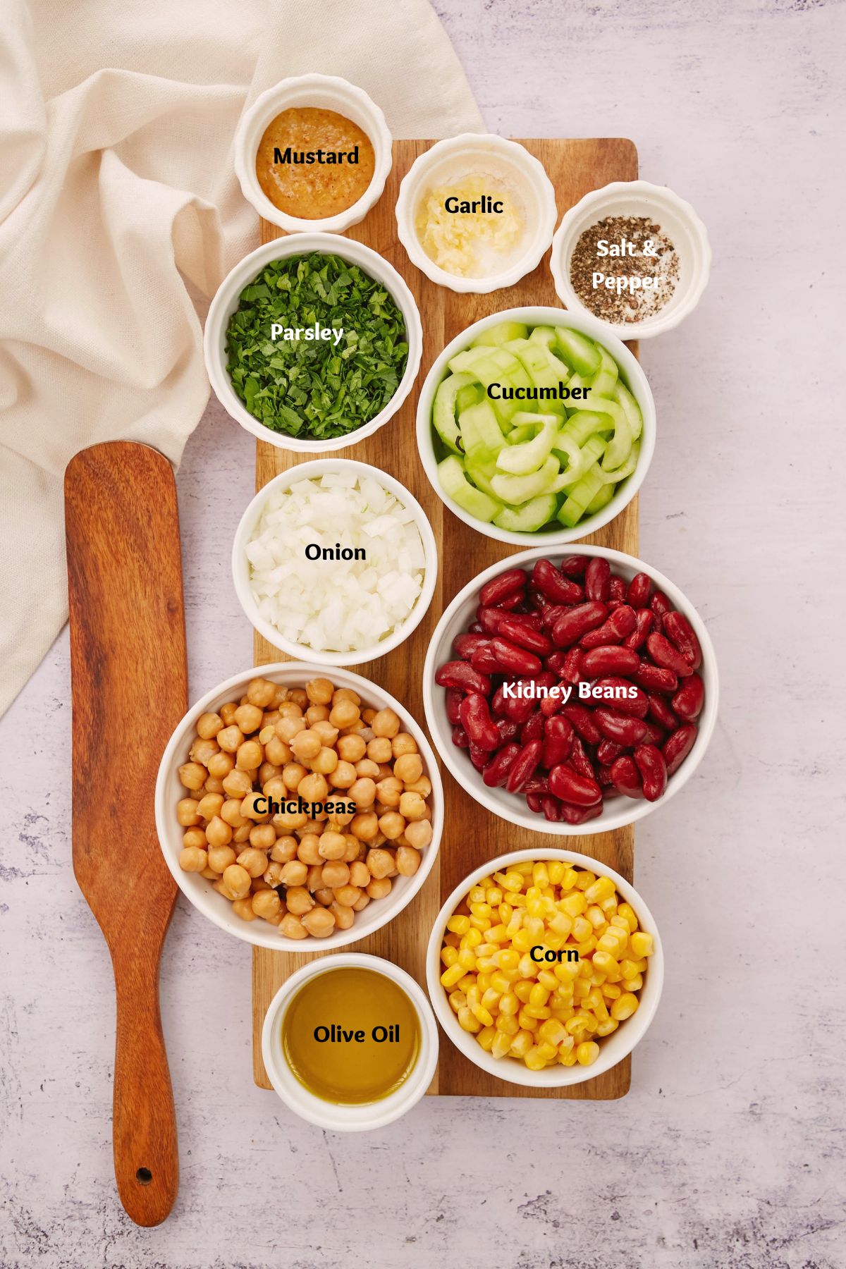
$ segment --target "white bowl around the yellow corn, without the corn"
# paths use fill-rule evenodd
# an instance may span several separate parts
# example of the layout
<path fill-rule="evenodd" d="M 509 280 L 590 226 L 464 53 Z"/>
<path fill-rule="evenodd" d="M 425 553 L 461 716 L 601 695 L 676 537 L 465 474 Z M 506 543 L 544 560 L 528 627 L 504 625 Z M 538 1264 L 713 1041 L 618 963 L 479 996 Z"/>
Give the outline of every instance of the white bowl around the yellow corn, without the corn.
<path fill-rule="evenodd" d="M 482 877 L 502 872 L 509 865 L 523 863 L 525 859 L 561 859 L 562 863 L 575 864 L 577 868 L 587 868 L 590 872 L 596 873 L 597 877 L 610 877 L 616 886 L 618 893 L 634 909 L 638 917 L 638 928 L 651 934 L 654 940 L 654 952 L 649 957 L 649 964 L 643 977 L 643 987 L 638 992 L 641 1004 L 637 1011 L 630 1018 L 627 1018 L 624 1023 L 620 1023 L 615 1032 L 611 1032 L 610 1036 L 605 1036 L 597 1042 L 599 1057 L 592 1066 L 547 1066 L 543 1071 L 530 1071 L 528 1066 L 516 1058 L 492 1057 L 491 1053 L 485 1052 L 469 1032 L 462 1029 L 440 982 L 443 972 L 440 949 L 444 930 L 446 921 L 460 901 Z M 500 855 L 497 859 L 491 859 L 488 863 L 482 864 L 481 868 L 477 868 L 476 872 L 472 872 L 469 877 L 465 877 L 460 886 L 455 887 L 438 914 L 438 920 L 429 939 L 429 948 L 426 950 L 426 982 L 438 1022 L 455 1048 L 460 1049 L 471 1062 L 481 1066 L 488 1075 L 505 1080 L 507 1084 L 523 1084 L 528 1088 L 562 1089 L 572 1084 L 583 1084 L 585 1080 L 592 1080 L 597 1075 L 610 1071 L 613 1066 L 616 1066 L 618 1062 L 621 1062 L 632 1052 L 638 1041 L 643 1039 L 661 1000 L 661 989 L 663 987 L 663 948 L 652 912 L 634 886 L 630 886 L 624 877 L 620 877 L 613 868 L 601 864 L 597 859 L 591 859 L 589 855 L 580 855 L 572 850 L 550 850 L 538 846 L 535 850 L 515 850 L 509 855 Z"/>

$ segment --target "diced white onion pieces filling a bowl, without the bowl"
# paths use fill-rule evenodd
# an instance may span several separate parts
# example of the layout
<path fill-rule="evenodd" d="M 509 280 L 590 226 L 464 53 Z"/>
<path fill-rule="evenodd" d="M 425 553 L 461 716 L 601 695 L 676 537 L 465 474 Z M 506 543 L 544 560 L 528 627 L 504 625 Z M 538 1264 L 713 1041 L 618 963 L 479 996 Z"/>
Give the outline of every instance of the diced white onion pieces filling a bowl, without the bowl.
<path fill-rule="evenodd" d="M 307 558 L 307 547 L 318 548 L 317 558 Z M 340 551 L 351 555 L 335 558 Z M 261 617 L 289 642 L 321 652 L 387 638 L 420 598 L 426 565 L 413 513 L 350 471 L 269 495 L 246 555 Z"/>

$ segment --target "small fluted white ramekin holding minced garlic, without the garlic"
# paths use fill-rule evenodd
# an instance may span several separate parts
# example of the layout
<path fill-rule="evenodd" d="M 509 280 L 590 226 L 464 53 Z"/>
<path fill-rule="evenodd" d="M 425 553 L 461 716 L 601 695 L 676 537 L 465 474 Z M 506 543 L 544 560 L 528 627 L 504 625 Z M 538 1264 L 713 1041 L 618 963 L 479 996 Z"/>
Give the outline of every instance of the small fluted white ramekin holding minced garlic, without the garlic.
<path fill-rule="evenodd" d="M 450 184 L 474 174 L 496 176 L 512 185 L 521 195 L 525 216 L 524 242 L 520 256 L 501 273 L 486 278 L 459 278 L 439 268 L 424 251 L 415 216 L 421 197 L 433 185 Z M 485 294 L 512 287 L 540 264 L 556 227 L 556 190 L 543 164 L 525 146 L 506 141 L 495 133 L 463 132 L 458 137 L 438 141 L 415 159 L 400 185 L 397 198 L 397 233 L 412 264 L 439 287 L 464 294 Z"/>

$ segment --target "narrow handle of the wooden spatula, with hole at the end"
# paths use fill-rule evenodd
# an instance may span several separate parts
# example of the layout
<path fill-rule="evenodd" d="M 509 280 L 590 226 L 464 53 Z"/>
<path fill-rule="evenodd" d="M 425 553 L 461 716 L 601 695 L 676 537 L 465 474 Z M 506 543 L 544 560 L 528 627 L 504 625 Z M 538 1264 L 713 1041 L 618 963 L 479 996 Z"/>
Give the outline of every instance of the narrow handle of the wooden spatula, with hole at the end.
<path fill-rule="evenodd" d="M 159 1013 L 159 962 L 147 948 L 114 963 L 114 1175 L 136 1225 L 159 1225 L 176 1199 L 176 1115 Z"/>

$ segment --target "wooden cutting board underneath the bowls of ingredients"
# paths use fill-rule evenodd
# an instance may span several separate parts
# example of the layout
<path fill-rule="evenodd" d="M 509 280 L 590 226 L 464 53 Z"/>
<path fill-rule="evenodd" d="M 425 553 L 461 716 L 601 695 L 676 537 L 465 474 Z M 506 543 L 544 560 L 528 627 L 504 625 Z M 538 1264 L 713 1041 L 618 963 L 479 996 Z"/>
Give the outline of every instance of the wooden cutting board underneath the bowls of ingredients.
<path fill-rule="evenodd" d="M 516 287 L 497 291 L 490 296 L 462 296 L 438 287 L 410 263 L 405 249 L 397 240 L 393 209 L 400 181 L 417 155 L 427 150 L 431 143 L 430 141 L 394 142 L 393 169 L 384 194 L 365 220 L 354 226 L 349 233 L 350 237 L 365 242 L 386 256 L 402 274 L 415 294 L 424 330 L 424 355 L 416 391 L 411 393 L 400 412 L 374 437 L 369 437 L 358 445 L 339 450 L 344 457 L 373 463 L 374 467 L 381 467 L 402 481 L 406 489 L 410 489 L 421 503 L 435 532 L 440 555 L 440 574 L 435 596 L 425 621 L 394 652 L 364 666 L 351 666 L 364 678 L 373 679 L 374 683 L 381 684 L 403 702 L 421 725 L 425 725 L 421 693 L 422 664 L 429 640 L 441 612 L 472 577 L 487 569 L 488 565 L 514 553 L 517 548 L 493 542 L 455 519 L 429 485 L 417 457 L 415 440 L 417 392 L 429 367 L 444 345 L 471 322 L 487 316 L 487 313 L 512 308 L 517 305 L 559 306 L 549 273 L 549 253 L 535 272 L 525 277 Z M 547 169 L 556 188 L 559 216 L 589 190 L 599 189 L 613 180 L 635 180 L 638 175 L 637 151 L 630 141 L 620 138 L 524 141 L 523 145 Z M 275 226 L 266 221 L 261 222 L 263 242 L 282 236 L 282 231 Z M 257 442 L 256 489 L 261 489 L 279 472 L 307 458 L 308 454 L 294 454 L 277 449 L 265 442 Z M 637 499 L 611 524 L 583 541 L 637 555 Z M 280 660 L 285 660 L 284 655 L 256 634 L 255 664 L 268 665 Z M 302 660 L 307 661 L 308 656 L 303 655 Z M 326 673 L 331 676 L 331 670 Z M 459 788 L 448 772 L 443 774 L 446 802 L 445 830 L 439 859 L 426 884 L 408 907 L 389 925 L 360 943 L 351 944 L 345 950 L 370 952 L 374 956 L 394 961 L 426 990 L 426 944 L 443 901 L 474 868 L 509 850 L 533 846 L 538 855 L 543 857 L 544 849 L 568 848 L 600 859 L 632 881 L 633 829 L 619 829 L 615 832 L 578 838 L 553 838 L 543 832 L 530 832 L 491 815 Z M 543 824 L 542 819 L 540 824 Z M 304 954 L 254 948 L 252 1062 L 255 1082 L 263 1089 L 270 1088 L 261 1061 L 261 1025 L 268 1005 L 288 975 L 312 959 L 313 954 L 313 952 Z M 517 1084 L 507 1084 L 468 1062 L 441 1032 L 440 1060 L 429 1091 L 463 1096 L 604 1099 L 623 1096 L 629 1089 L 629 1082 L 630 1062 L 627 1057 L 604 1075 L 572 1088 L 528 1089 Z"/>

